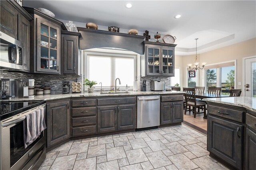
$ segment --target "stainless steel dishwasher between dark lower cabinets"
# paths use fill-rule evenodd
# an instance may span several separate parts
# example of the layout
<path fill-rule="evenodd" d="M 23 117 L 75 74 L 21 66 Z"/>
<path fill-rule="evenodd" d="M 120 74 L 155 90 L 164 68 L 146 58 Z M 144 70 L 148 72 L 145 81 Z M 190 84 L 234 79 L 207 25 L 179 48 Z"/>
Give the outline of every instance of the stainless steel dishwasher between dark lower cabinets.
<path fill-rule="evenodd" d="M 160 125 L 160 96 L 137 97 L 137 128 Z"/>

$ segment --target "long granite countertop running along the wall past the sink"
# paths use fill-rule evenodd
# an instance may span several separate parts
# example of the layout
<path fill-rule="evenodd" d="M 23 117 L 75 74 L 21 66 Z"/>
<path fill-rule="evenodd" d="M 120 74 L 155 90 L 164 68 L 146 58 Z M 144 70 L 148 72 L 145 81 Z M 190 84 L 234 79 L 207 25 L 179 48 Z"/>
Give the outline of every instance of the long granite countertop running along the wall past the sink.
<path fill-rule="evenodd" d="M 148 91 L 148 92 L 140 92 L 140 91 L 129 91 L 129 93 L 122 94 L 100 94 L 100 92 L 82 92 L 82 93 L 67 93 L 67 94 L 44 94 L 44 95 L 35 95 L 34 98 L 14 98 L 11 100 L 2 100 L 4 101 L 39 101 L 39 100 L 55 100 L 55 99 L 64 99 L 64 98 L 76 98 L 76 97 L 99 97 L 99 96 L 140 96 L 140 95 L 161 95 L 161 94 L 184 94 L 184 92 L 178 91 Z"/>

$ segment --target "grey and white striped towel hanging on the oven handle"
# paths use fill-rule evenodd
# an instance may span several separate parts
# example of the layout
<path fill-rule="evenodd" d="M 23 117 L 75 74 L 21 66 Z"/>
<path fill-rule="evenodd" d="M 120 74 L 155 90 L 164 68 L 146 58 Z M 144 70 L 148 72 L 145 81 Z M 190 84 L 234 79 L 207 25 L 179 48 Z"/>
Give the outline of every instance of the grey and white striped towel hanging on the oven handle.
<path fill-rule="evenodd" d="M 41 132 L 46 129 L 44 107 L 26 115 L 26 119 L 23 121 L 23 129 L 24 147 L 27 148 L 28 145 L 33 143 L 39 137 Z"/>

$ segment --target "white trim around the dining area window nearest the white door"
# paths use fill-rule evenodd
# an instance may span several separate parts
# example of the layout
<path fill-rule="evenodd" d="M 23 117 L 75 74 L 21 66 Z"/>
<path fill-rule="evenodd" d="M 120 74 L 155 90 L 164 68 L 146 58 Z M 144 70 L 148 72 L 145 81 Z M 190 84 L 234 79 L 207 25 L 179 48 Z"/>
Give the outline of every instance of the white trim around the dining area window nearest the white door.
<path fill-rule="evenodd" d="M 227 63 L 232 63 L 234 62 L 234 67 L 235 67 L 235 79 L 234 79 L 234 88 L 236 89 L 236 60 L 230 60 L 230 61 L 224 61 L 224 62 L 220 62 L 220 63 L 214 63 L 214 64 L 207 64 L 208 66 L 212 66 L 212 65 L 221 65 L 221 64 L 227 64 Z M 203 81 L 203 86 L 206 87 L 206 70 L 203 71 L 203 76 L 204 76 L 204 81 Z M 216 76 L 217 77 L 221 77 L 221 71 L 220 68 L 217 68 L 216 71 Z M 217 78 L 217 82 L 216 84 L 218 84 L 218 87 L 221 87 L 221 82 L 220 79 Z"/>

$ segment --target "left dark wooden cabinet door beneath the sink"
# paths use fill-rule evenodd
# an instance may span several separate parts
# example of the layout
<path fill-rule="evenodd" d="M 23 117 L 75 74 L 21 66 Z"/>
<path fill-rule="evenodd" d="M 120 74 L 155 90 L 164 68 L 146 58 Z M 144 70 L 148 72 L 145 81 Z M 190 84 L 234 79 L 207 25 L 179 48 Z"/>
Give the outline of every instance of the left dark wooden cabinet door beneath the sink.
<path fill-rule="evenodd" d="M 116 106 L 98 107 L 98 132 L 109 132 L 117 130 Z"/>

